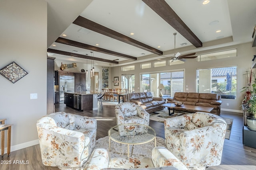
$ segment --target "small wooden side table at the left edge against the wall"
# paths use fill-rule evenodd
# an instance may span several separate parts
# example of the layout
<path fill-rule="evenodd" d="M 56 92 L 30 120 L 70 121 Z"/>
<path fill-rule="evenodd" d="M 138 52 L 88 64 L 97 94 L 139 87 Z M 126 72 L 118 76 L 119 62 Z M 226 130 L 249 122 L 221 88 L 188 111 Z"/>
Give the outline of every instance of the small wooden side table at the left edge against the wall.
<path fill-rule="evenodd" d="M 3 122 L 3 121 L 1 121 L 1 122 Z M 7 130 L 7 156 L 10 155 L 12 125 L 5 125 L 5 124 L 2 124 L 2 125 L 4 125 L 4 126 L 0 127 L 0 132 L 1 132 L 1 155 L 3 157 L 4 156 L 4 131 L 5 130 Z"/>

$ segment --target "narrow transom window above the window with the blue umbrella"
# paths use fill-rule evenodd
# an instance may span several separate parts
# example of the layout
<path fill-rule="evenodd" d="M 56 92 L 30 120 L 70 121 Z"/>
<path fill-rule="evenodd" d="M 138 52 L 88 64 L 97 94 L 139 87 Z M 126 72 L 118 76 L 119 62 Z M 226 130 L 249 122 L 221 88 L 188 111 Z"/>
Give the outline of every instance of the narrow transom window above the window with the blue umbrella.
<path fill-rule="evenodd" d="M 198 55 L 197 61 L 224 59 L 224 58 L 236 57 L 236 56 L 237 56 L 237 49 L 232 49 L 232 50 L 218 51 L 214 53 Z"/>

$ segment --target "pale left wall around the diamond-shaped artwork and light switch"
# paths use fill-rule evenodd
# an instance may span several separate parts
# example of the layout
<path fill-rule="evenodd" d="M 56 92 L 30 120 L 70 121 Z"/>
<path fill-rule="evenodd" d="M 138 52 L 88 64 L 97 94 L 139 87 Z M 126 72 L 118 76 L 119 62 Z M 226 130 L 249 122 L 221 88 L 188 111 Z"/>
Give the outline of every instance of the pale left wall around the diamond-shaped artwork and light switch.
<path fill-rule="evenodd" d="M 0 68 L 15 61 L 28 72 L 12 83 L 0 75 L 0 118 L 13 124 L 11 151 L 38 143 L 36 121 L 46 115 L 47 3 L 0 1 Z M 37 93 L 38 99 L 30 99 Z"/>

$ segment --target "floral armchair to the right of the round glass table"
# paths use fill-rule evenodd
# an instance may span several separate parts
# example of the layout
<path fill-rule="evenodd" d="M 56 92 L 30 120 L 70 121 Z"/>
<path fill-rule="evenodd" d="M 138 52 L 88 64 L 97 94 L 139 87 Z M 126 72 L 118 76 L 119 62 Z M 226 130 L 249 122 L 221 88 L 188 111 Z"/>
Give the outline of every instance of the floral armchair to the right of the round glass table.
<path fill-rule="evenodd" d="M 196 112 L 168 118 L 164 133 L 167 148 L 187 167 L 220 164 L 226 133 L 220 116 Z"/>

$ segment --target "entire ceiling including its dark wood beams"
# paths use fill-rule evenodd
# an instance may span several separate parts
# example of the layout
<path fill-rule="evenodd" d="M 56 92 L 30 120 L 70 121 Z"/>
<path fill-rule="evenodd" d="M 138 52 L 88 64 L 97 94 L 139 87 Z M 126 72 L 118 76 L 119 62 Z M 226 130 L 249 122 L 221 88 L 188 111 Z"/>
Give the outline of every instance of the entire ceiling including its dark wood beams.
<path fill-rule="evenodd" d="M 254 0 L 246 2 L 256 4 Z M 214 48 L 246 43 L 251 41 L 249 35 L 256 24 L 252 4 L 244 3 L 241 7 L 240 0 L 212 0 L 206 5 L 202 0 L 91 0 L 90 4 L 83 4 L 84 10 L 79 8 L 82 12 L 78 16 L 70 11 L 74 20 L 70 25 L 66 23 L 64 31 L 58 31 L 52 44 L 48 42 L 47 52 L 56 58 L 64 56 L 66 60 L 75 57 L 99 61 L 99 65 L 128 64 L 142 57 L 144 60 L 172 57 L 173 33 L 177 33 L 176 52 L 182 55 L 200 52 L 206 47 L 204 43 L 211 41 L 216 42 Z M 54 9 L 52 0 L 48 0 L 48 6 L 49 10 Z M 240 13 L 238 17 L 236 12 L 241 11 L 246 11 L 246 15 Z M 243 17 L 252 20 L 234 21 Z M 48 16 L 48 20 L 52 18 Z M 216 33 L 219 29 L 221 32 Z M 241 33 L 238 29 L 246 29 L 249 33 Z M 225 44 L 218 44 L 216 40 Z"/>

